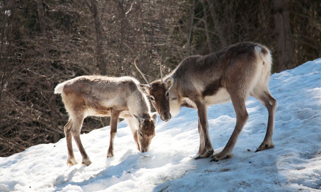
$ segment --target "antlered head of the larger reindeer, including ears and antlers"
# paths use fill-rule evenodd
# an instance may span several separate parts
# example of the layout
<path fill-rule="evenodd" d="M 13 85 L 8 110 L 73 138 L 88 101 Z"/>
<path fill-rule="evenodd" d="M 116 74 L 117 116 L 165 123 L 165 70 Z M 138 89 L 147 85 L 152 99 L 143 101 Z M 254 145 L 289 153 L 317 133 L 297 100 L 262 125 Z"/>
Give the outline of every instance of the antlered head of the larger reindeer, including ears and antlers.
<path fill-rule="evenodd" d="M 159 60 L 160 56 L 157 53 L 155 54 Z M 146 84 L 138 84 L 138 90 L 142 92 L 143 94 L 146 94 L 150 97 L 152 101 L 152 105 L 155 107 L 158 114 L 160 114 L 160 119 L 162 121 L 169 121 L 169 119 L 172 117 L 169 113 L 169 88 L 173 85 L 173 78 L 166 78 L 165 81 L 163 81 L 163 73 L 161 70 L 161 61 L 160 61 L 160 81 L 154 81 L 152 84 L 149 84 L 143 73 L 139 70 L 139 68 L 136 65 L 136 59 L 134 60 L 134 64 L 136 69 L 142 74 L 143 78 L 147 82 Z"/>

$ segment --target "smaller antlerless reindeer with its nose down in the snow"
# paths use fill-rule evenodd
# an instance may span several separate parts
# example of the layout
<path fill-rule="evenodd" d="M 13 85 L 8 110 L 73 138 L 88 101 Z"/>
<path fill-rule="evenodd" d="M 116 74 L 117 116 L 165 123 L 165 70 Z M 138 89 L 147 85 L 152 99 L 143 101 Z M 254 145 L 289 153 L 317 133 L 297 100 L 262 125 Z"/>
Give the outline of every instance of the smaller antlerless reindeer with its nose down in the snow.
<path fill-rule="evenodd" d="M 80 141 L 80 129 L 87 116 L 110 116 L 110 141 L 107 158 L 114 156 L 114 138 L 118 118 L 127 120 L 140 152 L 149 150 L 155 136 L 157 115 L 151 115 L 149 102 L 137 88 L 139 82 L 132 77 L 80 76 L 60 83 L 55 93 L 60 93 L 69 114 L 64 127 L 68 165 L 75 165 L 71 137 L 82 155 L 82 165 L 90 165 L 91 160 Z"/>

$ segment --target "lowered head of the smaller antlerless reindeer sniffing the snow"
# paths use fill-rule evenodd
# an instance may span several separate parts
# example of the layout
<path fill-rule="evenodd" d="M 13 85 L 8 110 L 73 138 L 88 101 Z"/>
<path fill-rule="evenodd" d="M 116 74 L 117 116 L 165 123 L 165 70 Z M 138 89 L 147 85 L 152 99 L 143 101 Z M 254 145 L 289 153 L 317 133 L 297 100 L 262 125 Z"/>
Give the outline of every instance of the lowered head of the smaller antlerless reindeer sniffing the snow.
<path fill-rule="evenodd" d="M 155 126 L 157 123 L 157 115 L 152 115 L 152 118 L 140 118 L 134 115 L 134 119 L 138 124 L 137 129 L 137 142 L 139 144 L 140 151 L 147 152 L 152 142 L 152 138 L 155 136 Z"/>

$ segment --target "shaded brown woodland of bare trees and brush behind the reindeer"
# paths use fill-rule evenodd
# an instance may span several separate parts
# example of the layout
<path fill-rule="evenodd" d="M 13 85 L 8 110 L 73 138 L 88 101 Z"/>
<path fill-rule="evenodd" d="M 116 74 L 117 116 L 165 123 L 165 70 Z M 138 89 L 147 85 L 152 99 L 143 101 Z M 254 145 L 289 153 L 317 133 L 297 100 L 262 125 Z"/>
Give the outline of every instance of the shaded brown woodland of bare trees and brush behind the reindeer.
<path fill-rule="evenodd" d="M 55 86 L 80 75 L 168 74 L 190 55 L 259 42 L 273 73 L 321 57 L 321 2 L 295 0 L 5 0 L 0 2 L 0 156 L 64 137 Z M 82 133 L 108 125 L 87 118 Z M 107 133 L 106 133 L 107 134 Z M 107 142 L 107 140 L 106 140 Z"/>

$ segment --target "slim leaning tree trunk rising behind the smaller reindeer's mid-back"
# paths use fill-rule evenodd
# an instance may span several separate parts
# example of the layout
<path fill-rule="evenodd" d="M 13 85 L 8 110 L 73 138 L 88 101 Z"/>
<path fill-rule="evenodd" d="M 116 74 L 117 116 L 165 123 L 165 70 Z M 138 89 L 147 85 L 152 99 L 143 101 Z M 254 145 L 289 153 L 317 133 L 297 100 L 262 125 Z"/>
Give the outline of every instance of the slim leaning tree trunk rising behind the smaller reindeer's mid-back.
<path fill-rule="evenodd" d="M 88 5 L 88 4 L 87 4 Z M 98 46 L 97 46 L 97 63 L 99 66 L 99 70 L 100 70 L 100 74 L 102 75 L 106 75 L 107 74 L 107 70 L 106 70 L 106 58 L 105 58 L 105 54 L 103 51 L 103 43 L 102 43 L 102 28 L 100 25 L 100 19 L 99 19 L 99 14 L 98 14 L 98 8 L 97 8 L 97 1 L 96 0 L 91 0 L 91 6 L 89 6 L 90 11 L 92 13 L 92 16 L 94 18 L 94 23 L 95 23 L 95 27 L 96 27 L 96 37 L 97 37 L 97 42 L 98 42 Z"/>

